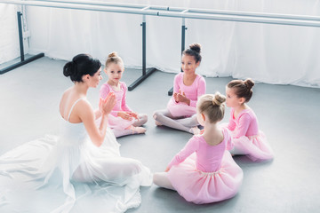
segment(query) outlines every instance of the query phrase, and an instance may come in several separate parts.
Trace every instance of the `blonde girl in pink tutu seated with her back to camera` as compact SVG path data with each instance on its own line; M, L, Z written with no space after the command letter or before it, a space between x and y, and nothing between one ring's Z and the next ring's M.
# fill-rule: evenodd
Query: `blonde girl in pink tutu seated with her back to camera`
M173 157L167 172L154 174L156 185L176 190L196 204L223 201L236 195L243 171L226 150L232 146L228 129L217 125L224 115L225 100L219 92L199 99L196 116L204 126L204 133L188 141Z

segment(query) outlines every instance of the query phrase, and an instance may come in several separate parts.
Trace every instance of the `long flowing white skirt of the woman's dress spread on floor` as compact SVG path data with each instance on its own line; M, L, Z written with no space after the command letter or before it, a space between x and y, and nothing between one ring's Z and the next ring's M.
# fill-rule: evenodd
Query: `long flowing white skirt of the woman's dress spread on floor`
M84 136L79 135L79 138ZM80 140L82 141L82 139ZM100 147L47 136L0 156L0 212L124 212L151 185L148 168L121 157L108 129Z

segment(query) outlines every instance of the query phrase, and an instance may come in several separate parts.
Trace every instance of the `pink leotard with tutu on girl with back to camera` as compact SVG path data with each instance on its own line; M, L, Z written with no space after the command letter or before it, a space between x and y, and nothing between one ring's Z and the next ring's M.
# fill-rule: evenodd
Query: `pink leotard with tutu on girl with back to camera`
M215 146L207 144L203 136L194 136L169 163L168 178L187 201L223 201L238 192L243 171L227 151L232 146L229 131L225 128L222 133L222 142Z

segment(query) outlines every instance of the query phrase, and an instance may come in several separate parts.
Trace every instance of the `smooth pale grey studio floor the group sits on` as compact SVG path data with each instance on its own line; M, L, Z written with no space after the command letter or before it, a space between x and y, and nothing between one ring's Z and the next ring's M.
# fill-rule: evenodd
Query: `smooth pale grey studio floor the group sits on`
M60 95L72 85L62 75L64 64L42 58L0 75L0 154L45 134L58 133ZM129 85L139 75L140 71L127 69L123 80ZM154 110L166 106L173 76L157 71L127 93L129 106L148 114L149 121L145 135L118 139L121 153L139 159L153 172L163 171L191 137L186 132L156 127L152 119ZM207 93L224 93L231 78L205 80ZM92 106L98 104L98 91L88 92ZM260 130L267 135L276 158L257 163L245 156L235 157L244 170L244 183L236 197L195 205L178 193L152 185L141 188L140 207L127 212L320 212L320 89L257 83L249 106L257 114ZM228 122L228 116L229 109L223 122Z

